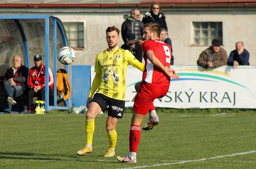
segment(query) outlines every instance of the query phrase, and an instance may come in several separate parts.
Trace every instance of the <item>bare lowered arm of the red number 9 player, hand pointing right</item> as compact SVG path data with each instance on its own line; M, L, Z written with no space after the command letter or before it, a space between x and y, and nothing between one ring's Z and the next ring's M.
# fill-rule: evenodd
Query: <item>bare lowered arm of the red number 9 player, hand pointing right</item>
M147 58L150 60L150 62L153 63L154 66L162 70L165 74L172 77L173 79L180 79L179 75L175 73L174 69L169 69L164 67L164 65L157 59L153 51L148 50L146 52L146 55L147 55Z

